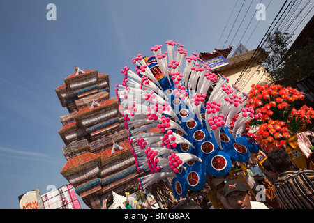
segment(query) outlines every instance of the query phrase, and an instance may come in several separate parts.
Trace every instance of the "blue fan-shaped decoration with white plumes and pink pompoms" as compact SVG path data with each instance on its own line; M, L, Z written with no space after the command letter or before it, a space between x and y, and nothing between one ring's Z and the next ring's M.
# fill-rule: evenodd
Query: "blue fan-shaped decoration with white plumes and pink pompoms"
M241 134L245 123L261 114L245 107L247 95L228 85L226 77L218 80L206 100L216 75L197 54L187 56L183 45L165 43L167 52L156 45L151 47L154 56L133 58L135 72L128 66L121 70L124 80L116 93L124 107L121 113L137 171L148 173L138 179L142 190L172 178L174 197L179 199L186 197L188 188L202 189L206 173L225 176L232 160L247 162L250 153L258 152L258 145ZM237 114L232 131L229 125ZM220 134L230 140L220 140Z

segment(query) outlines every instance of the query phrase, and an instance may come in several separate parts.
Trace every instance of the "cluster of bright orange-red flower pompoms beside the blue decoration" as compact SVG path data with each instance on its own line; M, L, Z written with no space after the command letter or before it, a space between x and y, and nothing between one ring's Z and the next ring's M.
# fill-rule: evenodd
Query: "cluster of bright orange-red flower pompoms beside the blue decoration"
M258 126L256 139L264 151L285 148L291 136L289 130L297 133L302 126L313 122L313 108L304 105L301 109L294 108L304 95L292 87L281 85L253 84L246 106L251 106L261 114L259 120L252 120L249 125Z

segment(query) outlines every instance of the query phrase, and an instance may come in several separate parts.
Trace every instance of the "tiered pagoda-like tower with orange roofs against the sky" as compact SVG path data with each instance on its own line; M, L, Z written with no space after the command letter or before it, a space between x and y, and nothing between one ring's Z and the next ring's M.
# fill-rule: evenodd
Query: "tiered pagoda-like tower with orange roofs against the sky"
M109 98L109 75L80 70L55 89L69 114L61 116L59 134L66 164L61 174L89 208L105 208L112 191L133 192L137 186L135 160L128 130L116 97Z

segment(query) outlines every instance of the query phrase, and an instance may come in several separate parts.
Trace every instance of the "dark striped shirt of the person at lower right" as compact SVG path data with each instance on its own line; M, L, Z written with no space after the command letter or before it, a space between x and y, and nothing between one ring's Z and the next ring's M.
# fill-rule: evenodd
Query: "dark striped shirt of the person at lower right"
M314 171L300 169L278 175L274 184L276 197L283 209L314 208Z

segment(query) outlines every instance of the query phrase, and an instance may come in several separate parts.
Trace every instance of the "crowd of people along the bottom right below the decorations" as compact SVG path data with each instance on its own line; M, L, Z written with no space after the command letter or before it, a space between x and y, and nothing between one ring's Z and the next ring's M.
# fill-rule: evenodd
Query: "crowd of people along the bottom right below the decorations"
M314 170L298 169L286 151L276 149L237 176L207 175L207 185L190 191L178 209L313 209Z

